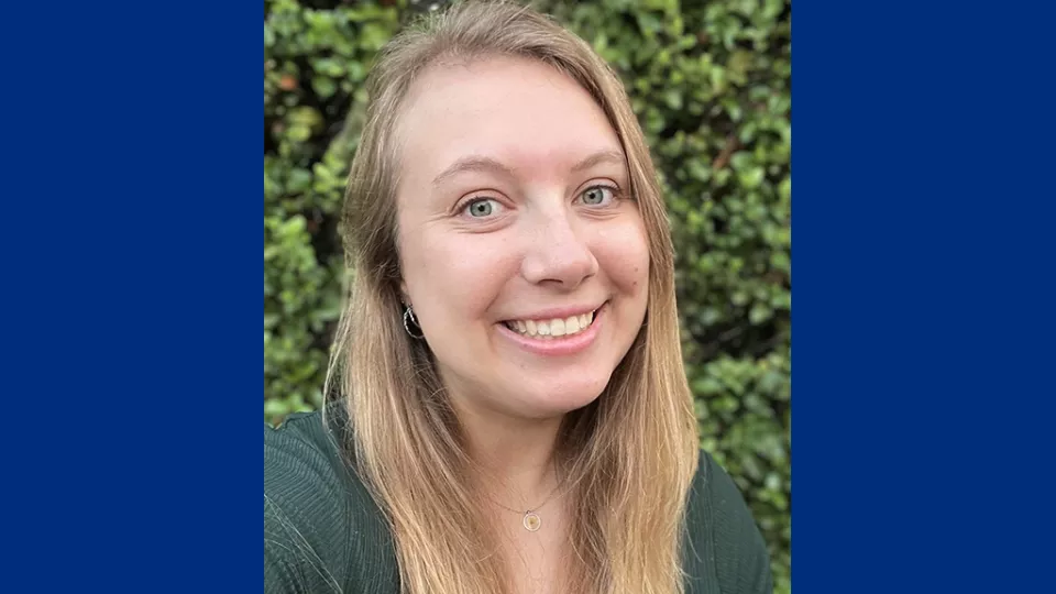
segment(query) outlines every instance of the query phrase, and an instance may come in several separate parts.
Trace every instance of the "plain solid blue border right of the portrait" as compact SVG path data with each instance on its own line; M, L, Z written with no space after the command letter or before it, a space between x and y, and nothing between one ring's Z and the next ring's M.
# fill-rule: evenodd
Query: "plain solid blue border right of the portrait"
M801 592L1052 587L1040 12L796 4Z

